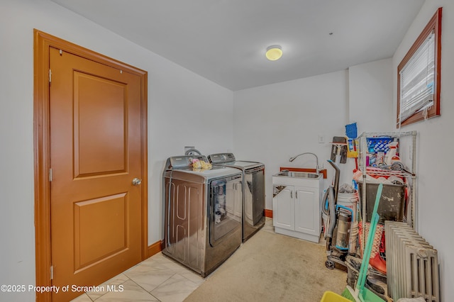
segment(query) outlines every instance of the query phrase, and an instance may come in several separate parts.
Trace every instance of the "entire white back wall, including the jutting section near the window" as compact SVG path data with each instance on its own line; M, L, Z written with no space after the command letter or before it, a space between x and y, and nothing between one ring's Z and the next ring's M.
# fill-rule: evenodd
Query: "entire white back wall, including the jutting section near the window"
M334 169L333 136L344 136L345 125L357 123L363 131L392 130L392 60L379 60L349 67L348 71L321 74L233 94L233 145L237 159L265 163L266 208L272 209L272 174L279 167L315 167L310 155L294 162L289 158L314 152L328 170L326 189ZM323 135L326 143L319 143ZM336 161L340 184L351 184L355 161Z

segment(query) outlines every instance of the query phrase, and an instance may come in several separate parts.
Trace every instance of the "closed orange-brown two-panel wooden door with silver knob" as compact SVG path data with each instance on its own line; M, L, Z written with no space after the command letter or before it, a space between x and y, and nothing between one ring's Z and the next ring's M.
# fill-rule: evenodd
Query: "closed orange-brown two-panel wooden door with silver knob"
M68 301L141 254L140 77L50 47L52 293Z

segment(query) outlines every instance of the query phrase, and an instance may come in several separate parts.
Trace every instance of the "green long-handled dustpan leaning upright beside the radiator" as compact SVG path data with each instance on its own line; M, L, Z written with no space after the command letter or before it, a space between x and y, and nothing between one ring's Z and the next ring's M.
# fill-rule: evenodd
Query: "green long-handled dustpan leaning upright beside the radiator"
M378 220L380 216L377 214L378 204L380 203L380 197L382 196L383 184L380 184L377 189L377 196L375 197L374 211L372 212L372 220L370 221L370 230L367 235L367 241L362 255L362 263L360 274L358 275L358 282L355 290L350 286L347 286L350 296L348 298L354 298L355 302L383 302L384 300L377 296L370 289L365 288L367 267L369 267L370 253L372 252L372 245L374 243L375 229L377 228ZM343 295L345 296L345 295Z

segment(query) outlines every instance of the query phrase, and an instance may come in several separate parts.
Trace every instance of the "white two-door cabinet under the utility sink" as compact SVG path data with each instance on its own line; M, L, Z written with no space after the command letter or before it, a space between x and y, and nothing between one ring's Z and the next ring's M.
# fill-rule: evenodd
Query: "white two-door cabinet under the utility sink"
M321 181L273 176L275 232L319 242L321 233Z

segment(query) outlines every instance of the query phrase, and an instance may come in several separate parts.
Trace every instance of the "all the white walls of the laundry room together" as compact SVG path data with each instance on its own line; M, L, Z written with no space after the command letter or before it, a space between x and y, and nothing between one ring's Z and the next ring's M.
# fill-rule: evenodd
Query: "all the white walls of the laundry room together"
M450 0L426 1L392 58L390 71L389 61L382 60L234 94L48 0L1 1L0 284L35 283L33 28L148 71L148 242L152 244L162 239L162 168L167 157L182 154L185 145L194 145L205 154L233 151L238 159L264 162L266 208L272 209L271 175L282 166L315 165L309 156L290 163L291 156L315 152L330 172L331 181L333 169L326 162L331 145L319 144L318 135L329 142L345 133L344 125L355 121L358 131L393 130L387 127L394 125L396 116L395 70L438 6L443 6L442 116L403 130L419 132L418 230L438 249L443 301L453 300L449 284L454 284L454 258L450 257L454 250L450 233L454 202L448 171L453 167L454 62L450 54L454 48L454 3ZM389 78L394 77L392 84L387 72ZM391 94L389 85L394 86ZM393 99L390 121L381 123L378 114L365 118L364 106L386 115L384 108L389 108L389 103L384 100L389 97ZM214 122L218 128L206 127ZM348 181L350 166L341 168L343 181ZM4 297L33 301L34 294L2 294Z

